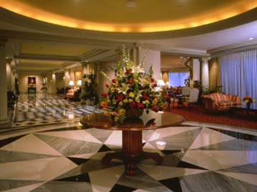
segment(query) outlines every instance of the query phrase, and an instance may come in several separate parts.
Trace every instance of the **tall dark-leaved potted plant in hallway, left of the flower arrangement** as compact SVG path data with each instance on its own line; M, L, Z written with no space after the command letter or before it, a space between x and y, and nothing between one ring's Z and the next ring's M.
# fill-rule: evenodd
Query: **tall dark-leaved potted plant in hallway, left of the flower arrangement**
M83 78L86 79L84 84L84 95L82 99L86 101L86 105L96 105L99 102L99 98L96 94L96 75L84 74Z

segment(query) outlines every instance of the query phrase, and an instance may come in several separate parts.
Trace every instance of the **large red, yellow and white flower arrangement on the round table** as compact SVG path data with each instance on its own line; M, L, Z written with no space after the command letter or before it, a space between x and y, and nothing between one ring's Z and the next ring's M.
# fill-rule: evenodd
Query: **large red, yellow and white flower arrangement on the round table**
M114 79L110 80L106 73L101 72L109 83L106 84L108 92L101 94L99 107L109 108L116 121L121 116L127 116L126 113L131 110L140 112L145 109L148 113L149 110L158 112L166 107L160 92L154 90L157 84L153 78L152 66L146 73L143 70L143 62L138 65L133 63L125 48L122 56L124 68L121 68L120 62L117 63Z

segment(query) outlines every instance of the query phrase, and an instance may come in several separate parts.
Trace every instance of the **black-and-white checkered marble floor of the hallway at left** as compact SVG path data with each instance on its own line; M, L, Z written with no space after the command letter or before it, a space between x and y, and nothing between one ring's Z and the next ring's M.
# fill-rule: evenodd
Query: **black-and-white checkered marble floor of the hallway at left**
M21 94L16 105L12 127L26 127L41 124L56 124L79 119L81 115L102 112L80 102L69 102L60 95L46 93Z

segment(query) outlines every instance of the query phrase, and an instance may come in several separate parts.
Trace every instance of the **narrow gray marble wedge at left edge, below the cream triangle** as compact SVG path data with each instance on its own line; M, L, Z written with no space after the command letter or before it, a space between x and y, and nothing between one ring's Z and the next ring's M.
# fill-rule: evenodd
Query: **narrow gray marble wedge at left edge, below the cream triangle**
M0 150L0 164L14 161L25 161L31 159L44 159L49 157L55 157L52 155L45 154L32 154L26 152L16 152L16 151L4 151Z

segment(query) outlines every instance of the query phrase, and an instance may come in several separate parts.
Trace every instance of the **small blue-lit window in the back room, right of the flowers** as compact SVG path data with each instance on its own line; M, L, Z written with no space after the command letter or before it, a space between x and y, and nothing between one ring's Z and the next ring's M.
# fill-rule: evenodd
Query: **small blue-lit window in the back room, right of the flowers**
M172 72L168 73L168 82L172 87L183 87L184 81L188 78L189 72Z

